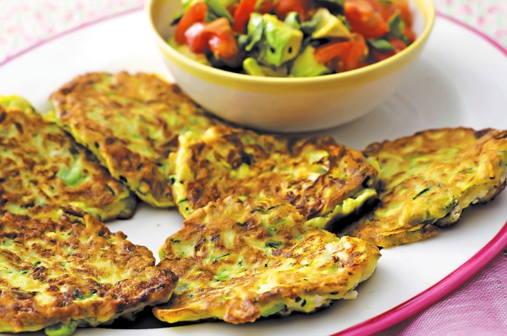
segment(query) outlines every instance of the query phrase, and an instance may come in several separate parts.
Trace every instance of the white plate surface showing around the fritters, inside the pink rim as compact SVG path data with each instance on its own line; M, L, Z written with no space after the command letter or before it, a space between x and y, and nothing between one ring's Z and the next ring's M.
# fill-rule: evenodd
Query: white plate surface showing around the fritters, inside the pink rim
M0 93L25 96L37 108L46 110L49 93L75 75L120 70L159 72L170 78L140 11L87 25L0 65ZM423 55L413 63L396 93L370 115L325 133L361 149L373 141L438 127L507 129L506 78L507 58L499 49L470 30L439 18ZM94 328L78 330L76 335L329 335L416 297L465 264L482 247L489 252L499 250L503 245L494 247L489 242L501 231L506 219L504 193L488 205L465 210L456 226L434 238L384 249L377 271L358 287L357 299L337 302L316 314L239 326L200 323L142 332ZM175 210L141 205L133 219L114 221L108 226L113 231L123 231L133 243L146 245L157 254L165 238L177 231L181 223Z

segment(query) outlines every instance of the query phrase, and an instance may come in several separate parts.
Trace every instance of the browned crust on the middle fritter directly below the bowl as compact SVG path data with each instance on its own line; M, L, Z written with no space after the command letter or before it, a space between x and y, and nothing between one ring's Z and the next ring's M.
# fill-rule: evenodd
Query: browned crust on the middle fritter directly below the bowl
M190 171L195 172L195 179L184 181L184 186L193 209L228 195L253 199L263 195L282 198L306 219L312 219L331 212L362 188L363 183L371 186L377 180L377 170L366 162L360 151L339 145L329 136L286 138L230 127L215 129L218 135L213 140L189 145L192 161L188 164ZM255 139L254 143L246 143L246 137ZM218 154L217 148L229 148L227 155ZM330 153L326 158L329 171L311 184L290 176L293 165L299 164L302 153L308 150ZM247 163L251 174L246 179L231 179L230 169L213 165L207 153L213 153L232 169ZM276 160L275 155L280 155L280 159Z

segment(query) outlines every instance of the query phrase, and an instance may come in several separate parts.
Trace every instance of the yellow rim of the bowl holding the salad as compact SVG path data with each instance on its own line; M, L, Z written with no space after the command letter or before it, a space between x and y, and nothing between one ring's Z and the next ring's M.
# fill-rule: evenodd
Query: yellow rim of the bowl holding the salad
M170 46L158 32L155 25L155 17L162 4L168 1L177 0L148 0L145 5L145 13L148 15L149 27L156 39L156 44L166 58L169 58L177 67L195 77L204 79L206 82L228 86L234 89L245 89L246 91L271 91L277 86L284 86L286 89L308 89L311 86L319 86L319 89L331 89L332 87L349 86L370 82L374 79L384 77L399 70L401 67L411 63L422 50L425 41L432 31L436 11L433 0L408 0L415 4L419 11L423 12L425 27L423 34L403 51L396 55L381 60L380 62L367 65L355 70L339 72L337 74L315 76L315 77L258 77L251 75L229 72L209 65L204 65L182 55ZM280 91L280 90L277 90Z

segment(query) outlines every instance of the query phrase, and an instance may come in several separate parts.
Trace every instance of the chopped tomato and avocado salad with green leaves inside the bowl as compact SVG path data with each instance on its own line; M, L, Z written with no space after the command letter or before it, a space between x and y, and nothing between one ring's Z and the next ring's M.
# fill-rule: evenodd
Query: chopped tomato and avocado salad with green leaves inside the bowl
M168 44L212 67L314 77L365 67L415 41L407 0L182 0Z

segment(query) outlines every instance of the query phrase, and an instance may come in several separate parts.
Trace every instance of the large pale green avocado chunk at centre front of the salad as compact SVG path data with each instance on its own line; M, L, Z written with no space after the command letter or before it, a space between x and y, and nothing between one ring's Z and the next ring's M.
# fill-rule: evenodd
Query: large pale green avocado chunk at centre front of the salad
M262 63L279 67L298 55L303 40L301 30L289 27L276 15L270 14L263 15L263 28L263 43L260 43L259 52Z

